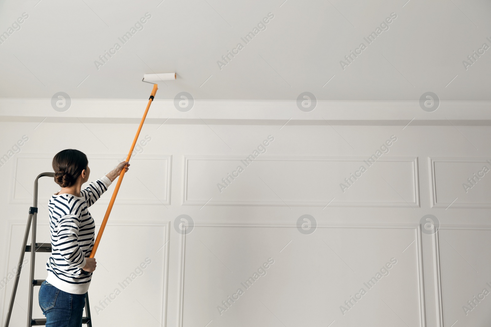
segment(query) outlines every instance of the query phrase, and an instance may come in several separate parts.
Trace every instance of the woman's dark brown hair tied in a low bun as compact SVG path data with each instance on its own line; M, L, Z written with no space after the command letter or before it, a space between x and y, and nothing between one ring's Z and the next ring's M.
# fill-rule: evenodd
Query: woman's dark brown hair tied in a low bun
M53 158L53 170L55 171L55 183L61 187L72 186L87 168L89 161L82 151L67 149L59 151Z

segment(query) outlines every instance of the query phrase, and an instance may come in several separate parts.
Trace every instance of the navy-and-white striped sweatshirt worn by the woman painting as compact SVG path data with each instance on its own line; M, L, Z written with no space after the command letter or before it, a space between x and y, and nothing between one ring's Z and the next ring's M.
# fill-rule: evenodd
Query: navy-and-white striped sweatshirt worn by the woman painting
M51 256L46 263L46 281L72 294L85 294L92 273L83 275L85 257L94 246L94 219L88 207L107 191L111 184L102 177L80 191L80 197L55 193L48 204L50 211Z

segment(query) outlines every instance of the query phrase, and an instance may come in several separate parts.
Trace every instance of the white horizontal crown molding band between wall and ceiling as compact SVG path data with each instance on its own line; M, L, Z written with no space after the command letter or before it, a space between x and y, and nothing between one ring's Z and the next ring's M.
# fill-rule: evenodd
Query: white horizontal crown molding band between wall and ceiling
M137 123L147 100L72 99L65 112L55 111L51 99L0 98L0 121ZM232 125L412 125L490 126L491 101L440 101L426 112L419 101L317 101L303 112L296 101L195 100L188 112L178 111L173 100L152 104L148 124Z

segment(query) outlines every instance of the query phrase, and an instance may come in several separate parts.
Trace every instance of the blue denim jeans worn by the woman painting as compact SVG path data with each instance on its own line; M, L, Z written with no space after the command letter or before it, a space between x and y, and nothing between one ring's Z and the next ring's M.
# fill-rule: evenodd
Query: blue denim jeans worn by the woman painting
M39 306L46 316L46 327L81 327L85 294L67 293L43 281Z

